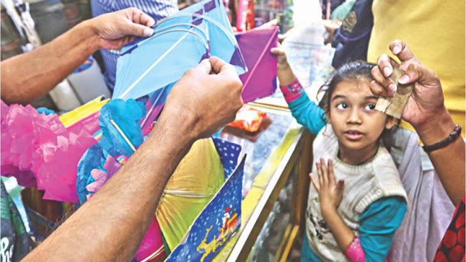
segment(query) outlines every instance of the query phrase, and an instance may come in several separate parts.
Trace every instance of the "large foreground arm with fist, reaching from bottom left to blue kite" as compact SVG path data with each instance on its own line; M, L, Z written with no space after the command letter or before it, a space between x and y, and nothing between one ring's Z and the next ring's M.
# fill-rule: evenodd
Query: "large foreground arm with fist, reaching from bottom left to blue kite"
M24 261L130 261L178 163L197 138L234 120L241 90L234 68L217 57L188 70L125 166Z

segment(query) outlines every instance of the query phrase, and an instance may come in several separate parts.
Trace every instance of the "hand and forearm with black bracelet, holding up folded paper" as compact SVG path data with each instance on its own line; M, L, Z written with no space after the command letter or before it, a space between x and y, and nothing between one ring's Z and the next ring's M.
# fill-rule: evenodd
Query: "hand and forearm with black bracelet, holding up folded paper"
M381 55L377 66L372 70L375 79L371 82L372 92L380 96L391 96L397 88L397 83L389 79L393 67L405 70L406 73L398 83L413 84L414 90L402 118L413 125L424 144L432 145L444 140L452 133L455 125L444 104L439 76L417 60L406 42L395 40L390 44L390 50L400 59L401 64L386 54ZM458 205L465 194L464 140L456 139L428 155L445 191L454 205Z

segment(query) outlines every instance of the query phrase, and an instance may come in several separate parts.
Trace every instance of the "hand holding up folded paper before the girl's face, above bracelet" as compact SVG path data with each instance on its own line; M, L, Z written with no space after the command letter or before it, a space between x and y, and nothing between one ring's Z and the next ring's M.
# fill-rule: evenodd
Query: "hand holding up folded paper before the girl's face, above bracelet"
M417 60L406 42L395 40L389 48L393 55L400 59L401 64L398 64L387 54L381 55L378 58L377 66L372 69L372 76L376 79L376 81L371 82L372 92L380 96L391 96L398 83L414 83L413 94L404 108L402 119L413 125L415 129L426 125L439 113L446 112L445 105L443 105L441 83L437 74ZM394 83L389 78L394 67L406 71L398 83Z

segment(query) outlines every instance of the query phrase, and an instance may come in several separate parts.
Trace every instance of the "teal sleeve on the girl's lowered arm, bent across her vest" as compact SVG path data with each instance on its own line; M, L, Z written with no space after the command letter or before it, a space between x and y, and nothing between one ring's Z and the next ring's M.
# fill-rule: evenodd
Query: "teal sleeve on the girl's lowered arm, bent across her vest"
M406 208L404 198L390 196L373 202L359 216L359 239L367 262L385 260Z

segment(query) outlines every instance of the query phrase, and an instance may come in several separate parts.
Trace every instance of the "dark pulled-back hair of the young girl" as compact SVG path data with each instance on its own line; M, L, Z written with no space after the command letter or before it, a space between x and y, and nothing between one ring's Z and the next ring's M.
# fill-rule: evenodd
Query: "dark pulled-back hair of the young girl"
M351 81L351 80L358 80L358 79L367 79L370 81L374 80L371 74L372 68L376 66L376 64L371 64L365 61L357 60L354 62L348 62L340 66L335 73L333 73L332 77L319 88L319 92L317 92L317 96L319 96L323 92L323 96L321 101L319 102L319 107L323 108L326 112L330 110L330 99L332 98L332 94L338 86L339 83L343 81ZM321 116L321 118L326 121L325 114ZM400 121L398 122L398 125ZM391 130L385 129L382 132L380 137L382 138L382 143L384 146L390 150L390 145L393 144L393 132L395 131L396 127Z

